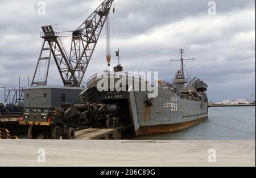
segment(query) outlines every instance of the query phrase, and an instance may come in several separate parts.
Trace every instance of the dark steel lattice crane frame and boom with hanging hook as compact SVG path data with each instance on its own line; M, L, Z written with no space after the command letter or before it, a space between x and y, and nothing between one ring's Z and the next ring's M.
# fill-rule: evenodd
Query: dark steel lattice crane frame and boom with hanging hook
M72 43L69 56L63 41L61 40L61 36L53 31L52 26L42 27L43 35L41 37L44 41L31 86L47 84L49 63L51 56L53 56L64 86L80 87L102 28L108 19L113 2L114 0L105 0L102 2L89 18L87 18L79 28L72 32ZM107 30L106 33L107 50L109 51L109 31ZM109 65L110 54L108 51L107 61ZM42 62L46 63L46 68L44 70L43 78L40 78L40 65ZM36 79L37 74L39 77Z

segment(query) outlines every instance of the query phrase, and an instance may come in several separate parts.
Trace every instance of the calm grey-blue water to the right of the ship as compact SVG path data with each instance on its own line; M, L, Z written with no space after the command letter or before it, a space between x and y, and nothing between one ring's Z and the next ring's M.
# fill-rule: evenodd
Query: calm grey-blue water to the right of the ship
M134 139L255 139L255 107L209 108L208 116L207 121L185 130Z

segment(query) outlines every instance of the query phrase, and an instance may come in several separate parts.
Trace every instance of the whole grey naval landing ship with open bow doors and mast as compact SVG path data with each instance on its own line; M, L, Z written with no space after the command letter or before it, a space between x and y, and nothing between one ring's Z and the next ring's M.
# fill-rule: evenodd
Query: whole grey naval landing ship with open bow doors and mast
M205 92L208 86L196 77L188 82L184 75L183 49L180 54L181 67L174 81L156 81L157 96L150 96L152 91L142 90L143 87L136 90L136 82L139 86L152 86L154 83L141 75L129 75L118 65L114 71L104 71L90 77L87 88L81 92L81 98L84 102L115 106L115 112L109 116L106 125L110 127L113 121L115 126L130 128L133 135L175 132L198 124L208 118L208 98ZM114 82L112 85L102 83L103 78L109 83L111 79ZM121 78L126 79L126 83L118 82ZM123 90L117 91L113 84Z

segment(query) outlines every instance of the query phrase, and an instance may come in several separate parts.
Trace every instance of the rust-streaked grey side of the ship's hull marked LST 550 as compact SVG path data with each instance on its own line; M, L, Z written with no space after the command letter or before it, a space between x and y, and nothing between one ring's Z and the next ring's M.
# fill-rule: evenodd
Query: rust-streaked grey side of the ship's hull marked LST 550
M147 92L134 93L139 124L136 135L175 132L208 118L207 102L181 99L173 92L159 88L158 96L148 106L144 102Z

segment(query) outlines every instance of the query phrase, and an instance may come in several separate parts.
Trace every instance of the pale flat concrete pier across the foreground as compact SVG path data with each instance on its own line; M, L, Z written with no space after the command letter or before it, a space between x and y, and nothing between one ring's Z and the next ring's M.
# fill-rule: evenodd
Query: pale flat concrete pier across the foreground
M255 166L255 140L0 140L0 166Z

